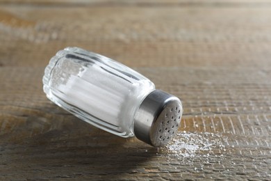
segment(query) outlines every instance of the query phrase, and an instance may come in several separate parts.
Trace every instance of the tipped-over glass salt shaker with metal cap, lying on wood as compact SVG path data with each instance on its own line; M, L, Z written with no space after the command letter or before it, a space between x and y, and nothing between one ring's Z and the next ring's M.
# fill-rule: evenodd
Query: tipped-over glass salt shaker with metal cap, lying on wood
M179 98L106 56L67 47L51 58L43 89L49 100L87 123L160 147L178 129Z

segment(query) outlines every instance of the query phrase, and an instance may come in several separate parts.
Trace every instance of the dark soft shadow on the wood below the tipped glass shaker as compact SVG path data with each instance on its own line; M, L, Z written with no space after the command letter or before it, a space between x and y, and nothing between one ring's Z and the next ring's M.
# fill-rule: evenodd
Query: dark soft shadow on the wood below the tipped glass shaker
M0 142L3 164L8 171L16 169L17 175L30 179L117 180L125 174L144 173L147 162L158 151L135 138L123 139L104 132L69 114L49 120L28 118L10 134L2 135L2 141L5 136L6 141Z

